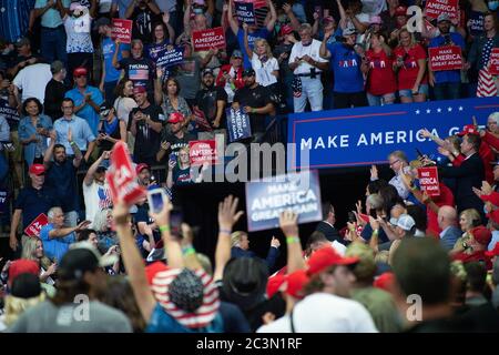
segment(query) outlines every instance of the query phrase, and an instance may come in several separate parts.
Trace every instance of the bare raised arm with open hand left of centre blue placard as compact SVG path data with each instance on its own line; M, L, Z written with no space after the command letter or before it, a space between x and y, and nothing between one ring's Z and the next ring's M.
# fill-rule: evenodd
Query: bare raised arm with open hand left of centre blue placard
M218 281L223 278L224 268L231 258L231 233L232 227L237 220L243 215L243 212L237 211L240 199L233 195L225 197L224 202L218 204L218 240L215 250L215 272L213 280Z

